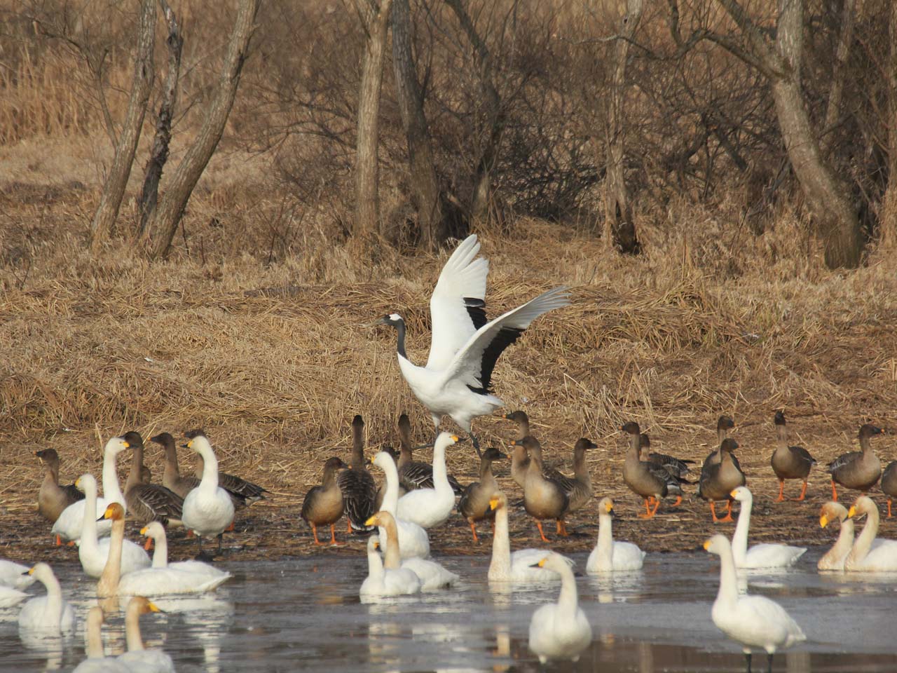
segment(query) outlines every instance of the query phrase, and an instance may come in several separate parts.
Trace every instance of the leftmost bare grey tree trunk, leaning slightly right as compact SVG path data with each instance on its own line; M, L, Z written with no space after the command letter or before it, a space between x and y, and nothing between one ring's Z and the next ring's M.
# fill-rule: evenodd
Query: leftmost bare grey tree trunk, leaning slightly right
M155 45L156 3L143 0L140 8L140 28L137 38L137 54L134 64L134 83L127 101L125 124L118 136L115 158L109 175L103 184L100 205L91 222L91 250L98 252L109 239L118 217L118 208L125 196L127 179L131 175L134 154L144 126L146 106L152 91L152 48Z

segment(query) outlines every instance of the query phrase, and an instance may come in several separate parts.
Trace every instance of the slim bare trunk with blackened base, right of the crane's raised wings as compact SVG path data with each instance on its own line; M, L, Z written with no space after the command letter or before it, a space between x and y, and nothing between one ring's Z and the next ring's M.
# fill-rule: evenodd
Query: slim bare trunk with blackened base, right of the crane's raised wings
M614 41L613 71L607 97L607 119L605 143L605 230L607 247L613 247L624 254L637 255L640 252L639 239L632 222L626 179L623 175L626 146L623 125L623 106L626 98L626 55L629 44L639 27L642 0L627 0L626 13L620 19Z

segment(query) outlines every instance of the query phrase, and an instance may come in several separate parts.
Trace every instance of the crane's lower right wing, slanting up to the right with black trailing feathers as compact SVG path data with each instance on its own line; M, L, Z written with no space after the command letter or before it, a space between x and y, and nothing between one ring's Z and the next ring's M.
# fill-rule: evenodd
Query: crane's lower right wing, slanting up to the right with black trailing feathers
M476 393L488 393L492 369L504 349L517 341L533 320L568 304L567 288L555 287L486 323L457 352L446 371L446 380L458 379Z

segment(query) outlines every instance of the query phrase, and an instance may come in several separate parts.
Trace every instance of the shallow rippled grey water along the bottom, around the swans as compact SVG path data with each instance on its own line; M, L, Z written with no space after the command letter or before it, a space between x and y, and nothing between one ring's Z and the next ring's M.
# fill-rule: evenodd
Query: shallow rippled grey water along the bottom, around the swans
M897 575L820 575L811 549L787 573L752 574L751 593L781 603L807 642L779 654L774 669L886 671L897 669ZM586 555L574 555L581 570ZM162 647L179 671L537 670L527 649L533 610L556 598L540 587L490 590L485 556L440 561L462 577L456 590L363 605L358 587L367 563L318 557L265 563L221 562L235 574L213 594L158 599L164 614L143 616L147 647ZM17 673L69 670L83 659L83 616L94 583L80 567L57 566L78 611L74 636L23 642L17 611L0 610L0 667ZM740 648L710 621L718 562L704 553L648 555L642 572L578 578L580 605L595 641L577 664L552 670L741 671ZM40 592L39 585L30 590ZM104 626L107 653L124 642L121 614ZM765 670L765 655L754 669Z

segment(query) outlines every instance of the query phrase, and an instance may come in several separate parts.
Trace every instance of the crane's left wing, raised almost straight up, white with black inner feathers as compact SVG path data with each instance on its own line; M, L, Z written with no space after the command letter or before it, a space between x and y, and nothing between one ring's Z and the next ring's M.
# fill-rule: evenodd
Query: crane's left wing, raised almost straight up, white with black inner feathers
M471 234L442 267L430 299L432 338L427 368L444 370L452 358L486 323L486 275L489 262L476 258L480 244Z

